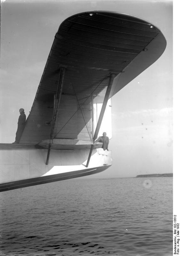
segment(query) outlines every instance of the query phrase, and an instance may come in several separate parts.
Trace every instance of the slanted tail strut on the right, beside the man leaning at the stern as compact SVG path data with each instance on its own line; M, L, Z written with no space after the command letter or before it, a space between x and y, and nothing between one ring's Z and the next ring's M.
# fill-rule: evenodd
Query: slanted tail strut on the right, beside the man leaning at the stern
M94 136L93 136L93 141L94 142L95 142L95 140L96 140L96 138L98 136L98 132L99 132L102 120L103 120L104 112L106 110L106 105L107 105L107 101L109 99L109 95L110 95L111 88L112 88L112 85L113 85L114 77L115 77L115 75L111 74L110 78L109 78L109 84L107 86L107 90L106 90L106 94L105 94L105 97L104 97L104 101L103 101L103 105L102 105L102 108L101 108L101 112L100 112L100 115L99 115L98 123L97 123L96 130L95 130L95 133L94 133ZM91 157L91 154L92 154L93 147L94 147L94 145L91 145L90 153L89 153L89 156L88 156L86 167L88 167L88 165L89 165L90 157Z

